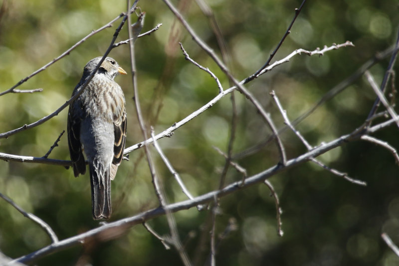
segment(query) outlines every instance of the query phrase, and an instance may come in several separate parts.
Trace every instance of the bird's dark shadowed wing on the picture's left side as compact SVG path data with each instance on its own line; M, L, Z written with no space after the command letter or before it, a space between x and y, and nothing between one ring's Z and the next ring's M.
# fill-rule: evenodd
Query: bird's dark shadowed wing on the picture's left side
M77 177L79 174L86 173L86 163L82 153L80 143L80 123L81 118L74 112L76 102L69 105L68 111L68 146L69 154L72 160L73 174Z

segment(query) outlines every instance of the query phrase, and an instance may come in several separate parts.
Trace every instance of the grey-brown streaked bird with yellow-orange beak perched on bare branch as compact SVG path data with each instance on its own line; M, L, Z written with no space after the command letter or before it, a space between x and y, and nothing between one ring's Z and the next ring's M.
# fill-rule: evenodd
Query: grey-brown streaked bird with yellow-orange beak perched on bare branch
M73 90L77 93L101 57L91 59ZM111 57L105 58L83 93L69 106L68 146L73 174L86 173L83 151L89 162L93 219L111 216L111 180L122 161L126 140L125 97L114 81L126 71Z

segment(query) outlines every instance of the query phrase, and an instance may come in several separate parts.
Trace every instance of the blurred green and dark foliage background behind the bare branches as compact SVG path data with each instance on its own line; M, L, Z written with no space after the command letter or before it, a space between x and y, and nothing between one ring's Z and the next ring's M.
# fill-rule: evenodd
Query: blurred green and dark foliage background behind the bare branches
M205 0L213 10L230 54L227 62L241 80L260 68L273 51L294 16L300 0ZM218 55L220 49L207 17L193 0L174 1L198 35ZM214 80L184 59L178 42L190 56L208 67L224 88L229 87L215 63L193 42L162 1L140 1L146 11L143 31L163 23L159 30L136 41L138 88L148 126L159 133L197 110L218 89ZM36 69L59 56L93 29L108 23L127 9L126 1L99 0L0 0L0 91L16 84ZM364 62L395 43L399 16L396 0L307 1L291 33L274 60L293 50L352 41L324 56L300 55L248 83L246 87L271 113L278 128L281 114L269 95L276 92L291 120L307 111L326 92L352 75ZM134 17L134 16L133 16ZM132 18L133 18L132 17ZM0 97L0 131L6 132L50 114L69 99L81 78L83 66L102 55L114 34L107 28L92 36L68 56L19 86L42 88L40 93L6 94ZM126 26L118 40L127 39ZM115 58L130 72L128 45L113 49ZM274 62L272 60L272 62ZM378 84L389 57L376 64L371 73ZM396 66L394 70L397 70ZM118 76L128 109L129 147L143 140L134 108L131 76ZM398 86L389 83L389 89ZM297 129L311 145L348 134L366 119L376 96L362 77L313 114ZM270 135L254 107L239 93L236 104L236 132L233 155L248 175L278 163L271 143L254 153L243 153ZM394 99L395 100L395 99ZM0 152L43 156L66 130L67 110L46 123L0 139ZM194 196L219 186L224 158L212 147L227 151L232 104L224 97L211 109L176 130L171 138L159 140L163 151ZM395 126L374 135L399 148ZM290 131L281 135L287 156L306 151ZM49 158L69 160L66 133ZM156 168L163 180L169 202L185 200L172 174L154 151ZM387 150L368 142L351 142L319 159L330 167L367 182L367 187L350 183L312 163L273 176L269 181L279 195L283 237L277 236L273 198L265 185L257 185L220 200L216 233L230 226L219 243L216 265L228 266L394 266L399 258L381 239L387 232L399 244L399 168ZM226 184L242 175L229 169ZM48 223L59 239L99 226L91 217L89 175L73 177L64 167L0 161L0 192L24 210ZM129 154L112 182L113 215L110 221L133 216L158 206L144 150ZM48 236L32 221L0 201L0 250L16 258L50 244ZM193 265L206 265L209 258L209 211L196 208L174 214L177 228ZM149 221L160 235L168 235L165 217ZM202 244L201 244L202 243ZM156 256L154 256L156 254ZM95 241L57 252L37 265L183 265L175 250L165 250L143 226L107 242Z

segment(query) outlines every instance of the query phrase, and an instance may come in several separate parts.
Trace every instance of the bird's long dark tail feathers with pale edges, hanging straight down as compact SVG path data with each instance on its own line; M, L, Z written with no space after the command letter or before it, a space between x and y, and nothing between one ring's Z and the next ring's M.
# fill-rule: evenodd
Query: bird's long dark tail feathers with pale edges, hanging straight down
M91 184L91 207L94 220L111 217L110 169L102 164L89 164Z

